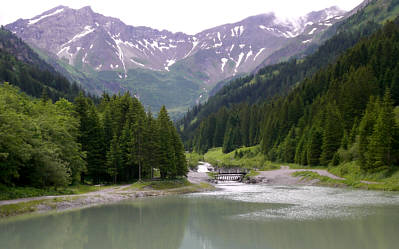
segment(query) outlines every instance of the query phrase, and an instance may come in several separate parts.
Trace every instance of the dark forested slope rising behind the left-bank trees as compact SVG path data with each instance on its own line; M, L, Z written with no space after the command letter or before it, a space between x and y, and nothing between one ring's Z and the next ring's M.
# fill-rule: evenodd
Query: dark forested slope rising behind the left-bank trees
M52 100L72 100L81 91L76 84L57 73L20 38L0 29L0 82L18 86L27 94L40 97L43 92Z

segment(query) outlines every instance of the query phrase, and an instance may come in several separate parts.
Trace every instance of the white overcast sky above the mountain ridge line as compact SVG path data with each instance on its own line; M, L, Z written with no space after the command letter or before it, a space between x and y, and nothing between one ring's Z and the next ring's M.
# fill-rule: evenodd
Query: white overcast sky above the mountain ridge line
M133 26L148 26L195 34L248 16L275 12L298 17L313 10L338 6L351 10L363 0L8 0L0 8L0 24L29 19L58 5L81 8L121 19Z

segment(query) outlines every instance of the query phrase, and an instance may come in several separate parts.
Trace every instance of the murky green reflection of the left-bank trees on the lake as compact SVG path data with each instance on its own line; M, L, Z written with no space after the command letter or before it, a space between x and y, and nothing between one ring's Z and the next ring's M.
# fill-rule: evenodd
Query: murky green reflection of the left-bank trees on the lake
M187 219L186 201L151 199L0 224L0 248L173 249Z

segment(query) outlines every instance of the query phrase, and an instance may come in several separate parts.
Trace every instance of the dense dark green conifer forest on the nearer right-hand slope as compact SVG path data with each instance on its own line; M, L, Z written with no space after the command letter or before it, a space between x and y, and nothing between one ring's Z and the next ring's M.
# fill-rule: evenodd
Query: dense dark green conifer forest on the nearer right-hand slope
M286 96L219 109L201 122L190 142L201 153L211 147L230 152L261 144L272 161L337 165L357 160L365 170L378 171L399 163L398 104L396 20L361 39Z

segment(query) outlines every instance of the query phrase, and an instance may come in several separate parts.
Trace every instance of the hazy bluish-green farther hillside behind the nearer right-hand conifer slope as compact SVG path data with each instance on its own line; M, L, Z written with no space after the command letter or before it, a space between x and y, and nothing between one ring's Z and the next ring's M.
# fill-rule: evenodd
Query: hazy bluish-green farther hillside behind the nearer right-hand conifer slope
M187 148L191 148L192 141L198 128L203 126L202 120L210 118L223 109L241 109L245 106L270 102L273 98L286 95L296 85L307 77L334 63L338 56L352 47L363 37L374 33L386 20L393 20L399 13L397 1L370 1L357 13L333 25L323 36L332 37L317 50L309 49L304 58L293 58L288 62L267 66L260 69L255 76L233 80L223 87L217 94L209 98L207 103L194 106L183 119L177 122ZM336 34L336 35L333 35ZM259 140L255 141L255 144ZM252 143L251 143L252 144ZM218 144L201 145L201 151L218 146Z

